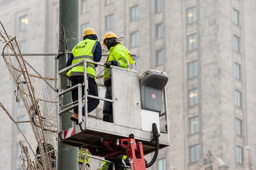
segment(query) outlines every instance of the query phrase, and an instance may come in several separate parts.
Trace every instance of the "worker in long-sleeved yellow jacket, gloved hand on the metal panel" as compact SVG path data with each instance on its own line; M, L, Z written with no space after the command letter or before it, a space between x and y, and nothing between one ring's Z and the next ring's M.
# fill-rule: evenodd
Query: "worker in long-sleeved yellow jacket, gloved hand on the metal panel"
M107 88L105 98L112 99L111 92L111 69L110 66L114 65L126 69L129 68L129 63L134 64L134 60L130 55L129 50L117 42L116 34L108 32L103 38L103 45L108 48L108 57L106 59L106 68L104 72L104 85ZM111 102L104 101L103 106L103 121L113 122L113 108Z

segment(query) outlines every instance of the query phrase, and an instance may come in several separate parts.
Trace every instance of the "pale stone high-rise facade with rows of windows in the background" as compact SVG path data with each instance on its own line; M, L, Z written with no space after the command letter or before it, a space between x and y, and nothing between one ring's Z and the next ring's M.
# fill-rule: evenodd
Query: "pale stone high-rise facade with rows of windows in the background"
M79 2L80 35L86 27L94 28L99 40L106 32L115 32L136 53L132 69L141 73L154 68L169 75L170 146L160 150L149 169L256 169L256 1ZM57 52L57 0L2 0L0 4L0 19L10 34L19 37L24 52ZM30 62L36 65L38 58ZM45 64L37 68L51 75L47 72L51 62L45 58L40 62ZM3 75L7 85L10 81ZM6 91L15 90L6 85ZM18 118L21 109L15 97L7 100ZM15 129L7 117L0 116L5 122L1 129L6 129L1 135L12 129L5 140L16 143ZM10 158L1 158L1 164L18 161L14 144L0 145ZM17 164L6 169L18 170Z

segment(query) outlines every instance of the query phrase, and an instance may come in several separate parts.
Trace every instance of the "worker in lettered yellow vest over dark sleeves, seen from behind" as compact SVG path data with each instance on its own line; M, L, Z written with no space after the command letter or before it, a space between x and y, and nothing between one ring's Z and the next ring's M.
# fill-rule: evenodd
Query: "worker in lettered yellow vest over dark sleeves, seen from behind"
M72 50L71 57L67 61L67 67L71 64L77 63L83 59L99 62L101 60L101 45L97 41L97 35L93 28L86 28L83 33L83 41L79 42ZM93 63L86 64L86 73L88 77L88 95L98 96L98 87L95 82L97 65ZM71 86L75 86L78 83L84 82L84 66L83 63L71 68L67 72L67 76L70 77ZM84 88L83 94L84 96ZM72 101L78 100L78 89L72 90ZM93 111L98 105L99 100L94 98L88 98L88 113ZM74 108L74 113L71 116L71 120L78 123L78 107ZM84 107L83 107L84 115Z

